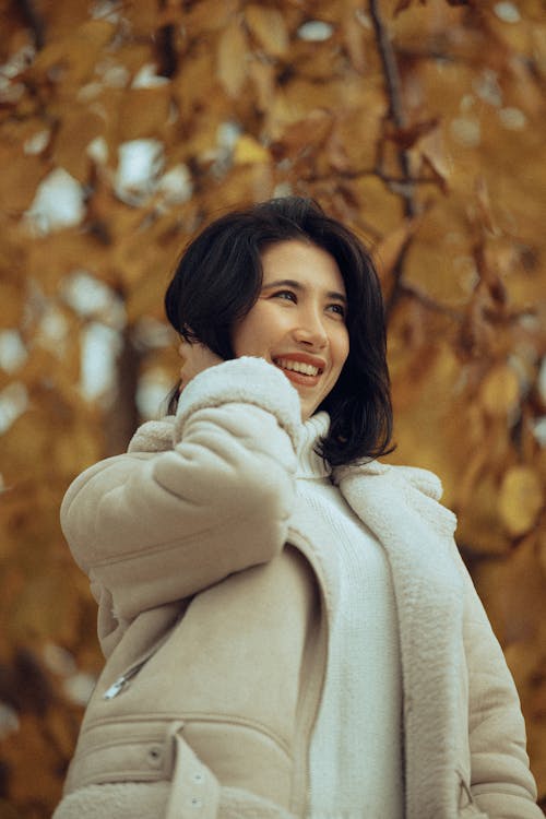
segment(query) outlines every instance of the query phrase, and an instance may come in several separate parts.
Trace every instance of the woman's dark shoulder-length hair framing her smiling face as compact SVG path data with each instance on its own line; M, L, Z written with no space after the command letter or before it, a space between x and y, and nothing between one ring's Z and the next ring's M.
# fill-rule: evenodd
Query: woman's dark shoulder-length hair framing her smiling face
M165 295L169 322L187 341L234 358L232 330L254 305L262 284L261 253L299 239L328 251L348 300L349 353L317 412L330 415L319 446L331 466L392 451L392 406L383 300L369 251L348 228L310 199L285 197L221 216L183 252ZM176 393L169 411L176 408Z

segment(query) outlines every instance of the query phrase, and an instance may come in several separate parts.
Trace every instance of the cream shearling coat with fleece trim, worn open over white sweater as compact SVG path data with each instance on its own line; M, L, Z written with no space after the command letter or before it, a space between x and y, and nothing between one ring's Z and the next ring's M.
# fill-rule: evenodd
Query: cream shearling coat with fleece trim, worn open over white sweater
M169 819L306 816L336 600L331 533L294 508L300 430L285 377L240 358L70 487L62 525L107 663L59 819L86 819L90 794L117 782L170 782ZM538 819L515 688L438 479L378 462L333 477L393 575L405 816Z

